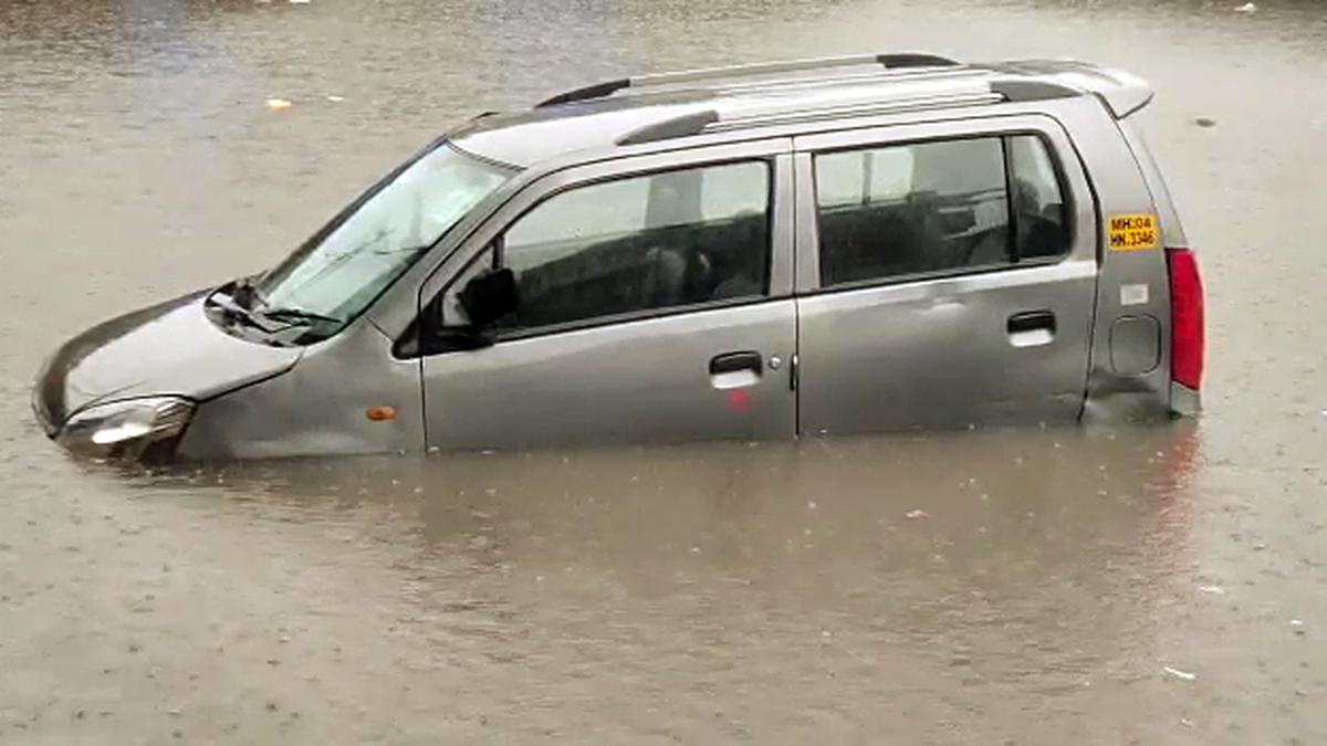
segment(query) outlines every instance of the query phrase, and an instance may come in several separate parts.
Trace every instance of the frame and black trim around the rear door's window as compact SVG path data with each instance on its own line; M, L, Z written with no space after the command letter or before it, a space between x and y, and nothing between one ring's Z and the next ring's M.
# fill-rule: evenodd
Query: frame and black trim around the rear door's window
M917 134L913 134L917 133ZM824 285L820 275L820 206L816 194L815 158L843 151L882 150L896 146L922 145L932 142L953 142L962 139L999 138L1006 147L1007 138L1031 135L1040 141L1055 171L1056 185L1064 203L1064 218L1068 228L1068 246L1055 256L1014 260L1009 264L961 267L914 272L889 277L872 277L852 283ZM1070 170L1074 159L1076 171ZM885 288L928 280L947 280L969 276L991 275L1011 269L1055 267L1075 259L1091 259L1100 267L1097 252L1099 238L1083 231L1096 226L1096 192L1082 163L1082 157L1064 126L1042 113L985 117L977 119L946 119L937 122L910 122L865 129L813 133L794 138L794 166L796 173L796 269L795 293L798 297L811 297L835 292L852 292L867 288ZM1006 181L1011 178L1006 167ZM1082 188L1080 188L1082 187ZM1009 187L1006 186L1006 190ZM1082 191L1082 194L1080 194ZM1093 219L1083 220L1082 210L1088 207ZM1011 204L1013 208L1013 204ZM1011 224L1013 227L1013 224ZM1015 239L1016 240L1016 239ZM1091 255L1087 255L1089 244ZM1080 256L1080 246L1084 248ZM809 267L808 267L809 265ZM809 271L808 271L809 269Z

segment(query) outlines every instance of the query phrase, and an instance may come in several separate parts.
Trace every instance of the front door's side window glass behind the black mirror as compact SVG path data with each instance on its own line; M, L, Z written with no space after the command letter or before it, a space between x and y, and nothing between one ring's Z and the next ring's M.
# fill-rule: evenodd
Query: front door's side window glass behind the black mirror
M498 324L507 332L760 297L770 272L770 166L563 191L512 223L490 252L479 265L515 276L516 309ZM464 279L445 297L447 325L466 323L455 300Z

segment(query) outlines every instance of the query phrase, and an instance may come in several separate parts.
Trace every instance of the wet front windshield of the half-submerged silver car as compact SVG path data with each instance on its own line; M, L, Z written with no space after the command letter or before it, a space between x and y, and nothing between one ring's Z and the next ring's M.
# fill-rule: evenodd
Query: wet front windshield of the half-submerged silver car
M439 145L264 275L261 305L344 325L512 175Z

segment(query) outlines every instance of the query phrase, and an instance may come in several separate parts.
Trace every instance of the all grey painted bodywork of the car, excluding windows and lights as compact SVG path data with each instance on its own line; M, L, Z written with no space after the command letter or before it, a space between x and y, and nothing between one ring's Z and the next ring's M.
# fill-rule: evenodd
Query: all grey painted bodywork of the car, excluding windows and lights
M90 329L61 348L35 392L38 414L53 427L98 401L186 396L202 404L180 454L247 458L426 445L791 437L799 374L803 431L1026 421L1072 417L1079 409L1087 419L1196 411L1197 392L1169 380L1164 251L1105 248L1105 218L1137 212L1156 212L1166 246L1184 246L1141 134L1132 121L1116 118L1151 92L1116 73L1036 65L791 86L652 89L476 118L454 133L459 146L524 170L341 335L305 350L251 344L212 327L199 296L179 299ZM1010 76L1055 78L1089 94L1007 104L985 97L957 104L941 96ZM928 86L937 96L933 105L803 115L872 97L924 102ZM613 145L626 131L709 109L719 112L721 122L701 134ZM1075 196L1072 255L1051 265L819 293L808 191L813 174L809 157L794 153L792 138L799 149L813 150L974 127L1031 127L1054 141ZM393 357L393 342L407 333L422 301L541 196L587 179L743 158L776 162L770 300L512 340L472 353ZM1147 285L1145 301L1132 293L1121 303L1124 285ZM1047 307L1059 321L1054 338L1007 336L1010 313ZM1157 320L1158 353L1156 336L1123 335L1112 344L1115 324L1139 316ZM759 378L709 376L711 357L748 349L766 357ZM1148 356L1160 357L1151 372L1116 366ZM798 365L776 368L776 357ZM393 406L397 417L370 422L365 410L372 406Z

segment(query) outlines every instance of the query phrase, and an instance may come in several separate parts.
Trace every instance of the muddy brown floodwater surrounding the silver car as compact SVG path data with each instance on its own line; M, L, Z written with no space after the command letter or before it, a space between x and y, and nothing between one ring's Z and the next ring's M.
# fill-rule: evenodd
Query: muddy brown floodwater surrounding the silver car
M1327 9L1237 4L0 0L0 742L1327 741ZM166 475L32 421L475 112L886 49L1153 82L1200 421Z

